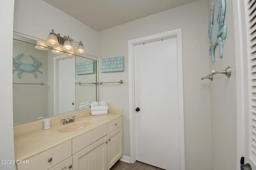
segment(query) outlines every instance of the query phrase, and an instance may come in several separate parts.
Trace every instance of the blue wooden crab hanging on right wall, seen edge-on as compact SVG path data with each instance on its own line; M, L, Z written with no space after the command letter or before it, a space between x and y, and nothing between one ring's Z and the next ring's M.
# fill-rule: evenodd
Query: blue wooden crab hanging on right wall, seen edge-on
M210 38L209 55L212 55L212 63L215 62L214 51L217 44L219 44L220 58L223 57L222 40L225 40L227 36L227 26L224 26L226 3L225 3L225 0L217 0L217 2L218 2L218 8L217 8L216 20L213 23L214 3L212 3L211 11L210 11L210 23L208 26L208 34Z

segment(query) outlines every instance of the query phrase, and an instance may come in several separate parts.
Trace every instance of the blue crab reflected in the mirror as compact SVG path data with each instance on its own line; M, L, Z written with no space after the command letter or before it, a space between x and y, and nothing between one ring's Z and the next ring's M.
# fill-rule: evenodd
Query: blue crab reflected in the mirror
M15 58L12 58L12 65L15 67L12 69L12 71L18 70L19 72L17 73L18 77L20 78L20 74L23 72L30 72L34 74L34 77L37 77L36 72L39 72L42 74L42 71L39 71L38 68L41 67L41 62L37 61L34 57L30 55L30 58L34 61L33 64L23 64L22 62L19 61L19 58L23 54L17 55Z

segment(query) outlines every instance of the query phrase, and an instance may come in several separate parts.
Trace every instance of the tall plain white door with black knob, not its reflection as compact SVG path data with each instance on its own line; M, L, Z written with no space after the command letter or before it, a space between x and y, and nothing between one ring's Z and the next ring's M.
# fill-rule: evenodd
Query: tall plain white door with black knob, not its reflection
M168 170L180 169L177 61L176 37L134 45L136 160Z

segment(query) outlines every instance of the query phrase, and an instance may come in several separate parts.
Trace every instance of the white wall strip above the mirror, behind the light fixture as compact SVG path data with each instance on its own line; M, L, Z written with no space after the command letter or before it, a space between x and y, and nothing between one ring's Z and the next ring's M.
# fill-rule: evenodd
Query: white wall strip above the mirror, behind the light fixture
M53 29L60 36L82 41L87 53L98 55L98 32L43 0L15 0L13 29L42 40L46 40Z

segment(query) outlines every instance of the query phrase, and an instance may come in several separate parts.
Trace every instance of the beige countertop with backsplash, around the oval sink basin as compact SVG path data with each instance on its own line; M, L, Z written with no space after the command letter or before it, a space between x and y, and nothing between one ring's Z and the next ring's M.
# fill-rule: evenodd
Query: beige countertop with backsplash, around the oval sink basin
M84 118L93 118L96 123L90 127L74 132L59 132L58 130L65 126L60 119L67 119L76 115L75 121ZM32 123L26 123L14 127L14 153L15 160L26 160L31 156L44 152L54 146L62 144L76 136L84 134L100 125L112 121L122 116L122 109L109 108L107 115L92 116L90 109L60 115L51 118L51 128L44 130L42 120Z

